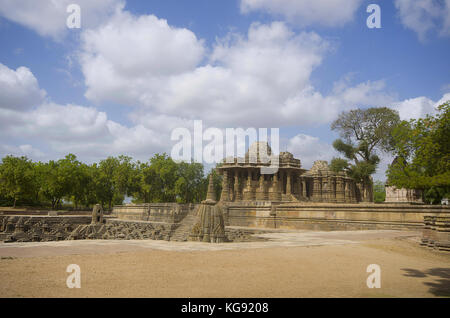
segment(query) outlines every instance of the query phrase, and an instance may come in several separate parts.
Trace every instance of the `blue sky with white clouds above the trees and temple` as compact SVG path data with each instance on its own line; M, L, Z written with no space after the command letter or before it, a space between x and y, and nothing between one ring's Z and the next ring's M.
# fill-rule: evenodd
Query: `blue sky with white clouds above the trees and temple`
M278 127L310 168L341 111L450 99L450 0L0 0L0 42L2 157L146 160L203 120Z

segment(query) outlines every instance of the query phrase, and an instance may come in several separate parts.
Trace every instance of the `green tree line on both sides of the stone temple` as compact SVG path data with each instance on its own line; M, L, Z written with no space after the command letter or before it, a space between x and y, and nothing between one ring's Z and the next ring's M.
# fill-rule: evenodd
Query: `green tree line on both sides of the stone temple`
M440 105L434 116L410 121L401 121L387 107L351 110L341 113L331 128L341 137L333 146L344 158L334 158L330 168L364 184L366 197L384 200L384 185L373 184L371 178L380 151L395 156L387 170L389 185L421 189L430 203L450 195L450 102ZM219 198L221 179L212 173ZM63 201L75 208L100 202L111 209L126 196L135 203L190 203L205 198L207 185L202 164L176 163L166 154L156 154L148 162L108 157L91 165L73 154L46 163L6 156L0 164L1 205L55 209Z

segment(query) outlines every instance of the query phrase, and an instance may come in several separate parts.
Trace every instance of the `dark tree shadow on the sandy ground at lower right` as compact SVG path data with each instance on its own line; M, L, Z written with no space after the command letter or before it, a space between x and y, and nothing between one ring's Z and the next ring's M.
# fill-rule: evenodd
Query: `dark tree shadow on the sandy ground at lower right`
M420 271L412 268L402 268L405 276L434 279L433 282L425 282L430 287L430 293L435 296L450 297L450 268L431 268Z

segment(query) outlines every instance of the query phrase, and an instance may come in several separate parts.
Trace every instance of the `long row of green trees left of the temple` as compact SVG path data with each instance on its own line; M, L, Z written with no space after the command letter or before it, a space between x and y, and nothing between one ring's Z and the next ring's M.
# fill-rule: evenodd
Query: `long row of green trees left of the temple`
M212 173L220 193L220 176ZM148 162L118 156L85 164L69 154L48 162L6 156L0 163L0 204L4 206L56 209L64 201L74 208L101 203L111 209L126 196L135 203L193 203L206 197L207 187L202 164L176 163L166 154L156 154Z

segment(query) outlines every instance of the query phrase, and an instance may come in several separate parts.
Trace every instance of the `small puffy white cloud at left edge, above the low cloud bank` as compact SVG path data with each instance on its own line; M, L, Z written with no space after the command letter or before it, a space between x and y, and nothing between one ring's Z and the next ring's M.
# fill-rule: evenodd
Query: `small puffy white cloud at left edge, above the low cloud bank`
M14 71L0 63L0 109L27 109L39 105L45 95L28 68Z

